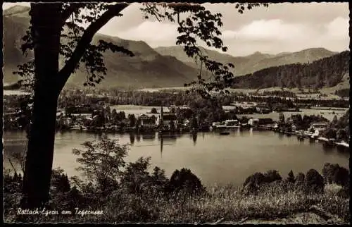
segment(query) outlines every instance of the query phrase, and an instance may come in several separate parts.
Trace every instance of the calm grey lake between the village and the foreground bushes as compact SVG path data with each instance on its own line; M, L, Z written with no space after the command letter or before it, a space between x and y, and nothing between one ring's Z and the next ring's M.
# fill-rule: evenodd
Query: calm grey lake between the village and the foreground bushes
M272 131L236 130L230 135L219 133L197 133L196 135L144 135L109 134L120 143L132 144L126 161L139 157L151 157L154 166L165 169L170 176L175 169L190 168L203 184L240 186L247 176L255 172L276 169L287 177L306 173L310 168L321 172L325 162L348 168L349 153L336 149L323 149L318 142L300 142L295 136L287 137ZM60 166L69 176L77 175L79 165L72 154L73 148L82 148L82 142L99 139L94 133L76 131L56 133L54 168ZM25 133L4 133L4 167L11 168L8 154L19 152L25 147Z

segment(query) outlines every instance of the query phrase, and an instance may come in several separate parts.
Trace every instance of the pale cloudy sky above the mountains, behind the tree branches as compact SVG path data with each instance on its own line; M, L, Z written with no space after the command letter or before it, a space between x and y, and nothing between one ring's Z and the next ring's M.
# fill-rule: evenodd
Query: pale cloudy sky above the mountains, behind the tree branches
M5 3L3 8L28 3ZM222 41L227 54L246 56L260 51L266 54L301 51L323 47L344 51L349 46L348 3L280 3L257 7L243 14L235 4L203 4L213 13L222 14ZM142 40L151 47L175 46L177 25L145 20L139 8L131 4L123 17L113 18L99 30L122 39Z

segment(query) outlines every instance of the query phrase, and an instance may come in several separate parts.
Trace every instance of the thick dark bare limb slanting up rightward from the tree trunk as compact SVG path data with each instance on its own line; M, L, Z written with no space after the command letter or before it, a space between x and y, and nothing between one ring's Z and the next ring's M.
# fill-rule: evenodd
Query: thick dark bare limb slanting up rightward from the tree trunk
M58 79L60 82L58 87L60 90L67 82L73 70L75 70L75 66L77 66L77 63L80 62L80 59L84 54L84 51L86 50L90 42L92 42L92 39L96 34L96 32L98 32L101 29L101 27L103 27L103 25L106 25L106 23L108 23L108 21L111 20L111 18L113 18L114 16L118 16L120 12L127 6L129 6L129 4L127 3L115 4L113 6L109 6L108 10L105 13L103 13L101 17L99 17L97 20L92 22L92 24L89 25L89 27L87 27L80 41L77 43L77 47L75 48L75 51L73 51L72 56L67 61L65 66L63 66L63 68L58 73Z

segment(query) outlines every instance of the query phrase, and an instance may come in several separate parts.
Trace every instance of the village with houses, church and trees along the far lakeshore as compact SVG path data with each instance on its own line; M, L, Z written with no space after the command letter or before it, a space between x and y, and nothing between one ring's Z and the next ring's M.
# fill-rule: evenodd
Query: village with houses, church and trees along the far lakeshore
M30 105L29 105L30 106ZM233 102L222 106L225 115L222 121L207 121L208 118L195 114L187 105L150 107L138 114L126 114L111 108L103 101L97 104L82 104L70 108L58 109L56 114L57 130L77 130L94 133L196 133L213 131L220 135L229 135L234 130L272 130L287 136L296 136L298 140L322 142L324 147L349 149L346 128L337 123L337 116L328 121L322 115L307 116L299 108L310 108L308 104L268 104L268 102ZM89 109L90 111L87 111ZM334 108L327 108L333 110ZM4 129L13 130L28 125L26 108L7 108L4 115ZM142 113L143 112L143 113ZM279 119L268 118L272 112L279 113ZM284 112L294 113L285 119ZM209 113L208 113L209 114ZM251 115L256 114L256 117ZM329 114L334 114L334 111ZM348 113L346 113L348 116ZM346 115L345 114L345 115ZM241 117L237 117L242 115ZM245 116L243 116L245 115ZM258 117L261 116L261 117ZM344 117L344 116L342 116ZM341 117L341 118L342 118ZM22 126L21 126L22 125ZM339 126L340 125L340 126ZM348 130L348 129L347 129Z

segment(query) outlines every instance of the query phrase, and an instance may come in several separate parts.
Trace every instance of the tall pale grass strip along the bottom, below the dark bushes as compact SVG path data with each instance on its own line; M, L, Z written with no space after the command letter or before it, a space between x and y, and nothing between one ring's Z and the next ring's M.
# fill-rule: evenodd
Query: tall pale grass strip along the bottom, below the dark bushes
M136 195L119 188L106 199L100 197L88 200L90 196L94 195L92 188L90 193L85 190L77 192L75 188L70 192L58 192L52 195L55 200L51 200L51 208L48 209L70 209L69 205L62 207L58 207L58 205L72 203L73 207L80 209L103 210L103 215L49 215L40 216L40 219L32 219L32 221L193 223L195 221L217 221L222 218L227 221L239 221L244 218L275 219L275 217L286 216L294 212L308 211L312 205L317 205L331 214L338 215L345 223L349 219L349 198L341 197L332 192L306 195L302 190L296 189L292 185L287 188L283 184L263 187L258 195L244 195L232 187L210 188L208 193L199 196L180 194L175 197L152 193ZM8 194L6 194L6 198L9 198ZM13 198L16 197L13 195ZM6 221L29 221L20 218L21 216L15 216L13 212L5 214Z

